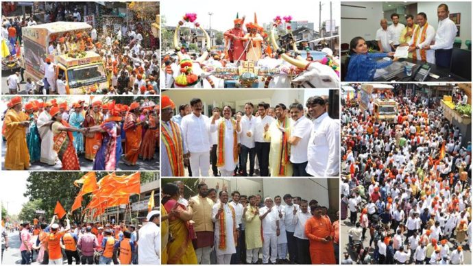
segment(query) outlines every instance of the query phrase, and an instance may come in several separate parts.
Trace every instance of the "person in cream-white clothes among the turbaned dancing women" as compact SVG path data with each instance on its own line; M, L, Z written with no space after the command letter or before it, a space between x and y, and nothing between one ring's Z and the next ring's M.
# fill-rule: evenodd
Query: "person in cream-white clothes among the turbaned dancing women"
M49 121L51 121L51 116L48 112L41 112L37 122L38 131L41 137L40 162L54 165L58 154L53 151L53 131L49 128L49 125L47 125Z

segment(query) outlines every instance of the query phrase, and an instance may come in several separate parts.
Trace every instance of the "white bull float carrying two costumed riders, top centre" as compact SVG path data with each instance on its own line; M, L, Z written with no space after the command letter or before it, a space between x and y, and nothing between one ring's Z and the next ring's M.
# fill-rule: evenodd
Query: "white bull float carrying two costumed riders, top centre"
M291 16L284 16L285 23L291 23ZM239 23L243 24L244 19L238 18ZM185 49L178 41L180 36L180 27L190 23L193 27L201 30L206 37L206 49L202 56L191 60L185 53ZM178 87L203 87L203 88L338 88L339 86L339 65L334 60L324 57L321 60L309 62L302 58L301 53L293 44L294 57L289 56L287 51L280 49L276 43L274 32L276 27L282 23L280 16L274 19L273 29L268 36L259 27L256 21L256 14L253 23L247 23L247 29L251 34L244 37L238 37L238 40L244 41L244 47L241 47L240 56L236 53L234 62L226 62L223 66L217 60L207 60L208 55L212 53L210 47L210 37L206 30L197 22L197 14L187 13L175 27L173 45L175 53L178 56L177 66L173 66L173 80ZM291 29L289 28L289 31ZM232 36L232 34L230 34ZM232 47L226 40L225 49ZM263 43L263 44L262 44ZM260 56L262 49L265 48L267 54L273 56L272 51L276 51L277 58L270 56ZM272 49L271 49L272 47ZM225 51L226 58L230 51ZM218 53L218 51L217 51ZM230 57L230 61L231 61Z

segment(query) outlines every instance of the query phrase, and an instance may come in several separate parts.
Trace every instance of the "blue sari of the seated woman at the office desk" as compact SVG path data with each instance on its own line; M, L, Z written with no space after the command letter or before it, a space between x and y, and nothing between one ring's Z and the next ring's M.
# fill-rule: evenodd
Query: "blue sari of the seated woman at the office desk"
M376 69L383 69L393 61L379 62L374 58L384 58L387 53L361 53L352 54L348 62L348 71L345 82L372 82Z

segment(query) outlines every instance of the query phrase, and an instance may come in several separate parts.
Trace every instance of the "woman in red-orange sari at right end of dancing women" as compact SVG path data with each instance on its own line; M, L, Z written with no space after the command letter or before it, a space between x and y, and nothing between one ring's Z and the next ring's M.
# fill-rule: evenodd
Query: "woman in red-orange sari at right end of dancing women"
M153 160L156 153L156 143L158 142L158 115L156 110L149 110L148 114L148 123L144 125L147 130L140 148L140 157L143 160Z

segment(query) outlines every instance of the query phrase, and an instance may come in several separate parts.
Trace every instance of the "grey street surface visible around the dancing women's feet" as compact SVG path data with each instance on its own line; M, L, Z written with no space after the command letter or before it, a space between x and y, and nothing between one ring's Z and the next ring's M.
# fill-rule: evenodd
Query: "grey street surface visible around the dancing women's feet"
M6 153L6 143L3 142L1 145L1 168L5 169L5 153ZM79 156L80 169L82 171L92 170L93 161L86 160L84 156ZM56 165L47 165L43 162L32 162L29 167L29 171L61 171L61 162L56 162ZM156 152L154 160L143 161L138 159L136 165L128 166L125 165L122 161L119 162L117 171L158 171L159 169L159 154Z

